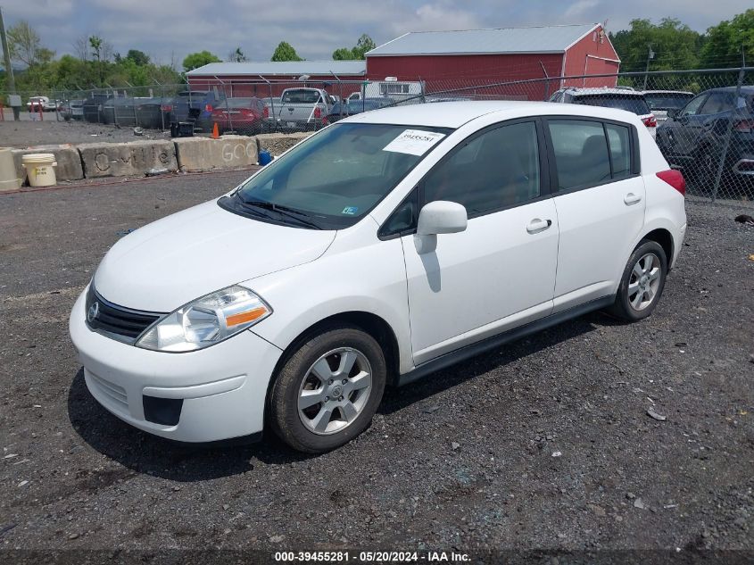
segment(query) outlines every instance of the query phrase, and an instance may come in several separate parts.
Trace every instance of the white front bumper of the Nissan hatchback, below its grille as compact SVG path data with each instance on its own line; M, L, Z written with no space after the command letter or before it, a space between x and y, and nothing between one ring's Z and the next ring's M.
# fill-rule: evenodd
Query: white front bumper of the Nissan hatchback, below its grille
M87 388L105 409L136 428L181 442L261 432L269 378L282 353L278 347L244 331L190 353L141 349L88 328L86 293L70 313L70 338ZM161 406L173 411L174 421L161 414Z

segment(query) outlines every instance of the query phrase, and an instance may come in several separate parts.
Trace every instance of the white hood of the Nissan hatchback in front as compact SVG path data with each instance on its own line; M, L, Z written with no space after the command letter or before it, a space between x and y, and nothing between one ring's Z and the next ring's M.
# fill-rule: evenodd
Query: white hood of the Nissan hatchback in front
M123 237L97 268L95 288L120 306L172 312L220 288L314 261L335 236L244 218L212 201Z

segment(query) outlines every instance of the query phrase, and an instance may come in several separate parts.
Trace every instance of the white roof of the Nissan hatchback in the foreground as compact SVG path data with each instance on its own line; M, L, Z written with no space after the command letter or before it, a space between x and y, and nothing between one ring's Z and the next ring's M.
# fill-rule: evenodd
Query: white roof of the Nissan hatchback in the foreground
M501 120L528 116L588 116L606 120L635 123L632 112L601 106L578 104L552 104L551 102L485 101L444 102L443 104L404 104L358 113L341 121L350 123L382 123L430 128L460 128L469 121L491 113L499 114Z

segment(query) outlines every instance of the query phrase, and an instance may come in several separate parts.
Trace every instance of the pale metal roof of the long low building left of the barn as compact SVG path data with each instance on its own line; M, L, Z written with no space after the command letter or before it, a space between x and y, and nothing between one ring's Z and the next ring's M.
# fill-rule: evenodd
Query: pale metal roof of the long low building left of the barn
M254 61L254 62L211 62L194 71L189 77L214 77L228 75L250 75L256 77L301 75L363 76L367 73L366 61Z

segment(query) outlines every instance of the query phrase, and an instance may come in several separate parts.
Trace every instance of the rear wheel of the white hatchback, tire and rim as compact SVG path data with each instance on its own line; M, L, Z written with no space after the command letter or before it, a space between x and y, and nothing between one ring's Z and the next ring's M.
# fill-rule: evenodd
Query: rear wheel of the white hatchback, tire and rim
M645 258L648 256L653 258L651 260L652 267L657 267L659 269L656 285L653 284L654 279L650 280L650 276L644 280L634 272L634 266L637 266L637 264L640 268L642 264L647 264ZM628 262L626 262L626 269L623 270L623 275L620 279L620 286L617 288L615 303L609 307L608 312L621 320L629 322L639 321L649 317L657 307L657 303L659 303L659 298L665 288L666 278L667 256L665 250L655 241L642 239L639 245L636 246L636 249L634 249L634 253L631 253ZM640 286L634 287L634 284ZM650 288L652 292L651 300L643 300L648 294L642 292L642 284L644 284L644 288ZM639 295L639 293L642 293L642 295ZM637 295L639 295L638 299ZM637 302L638 307L637 305L634 305Z

